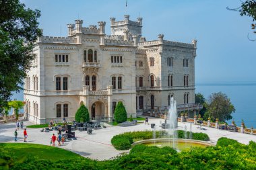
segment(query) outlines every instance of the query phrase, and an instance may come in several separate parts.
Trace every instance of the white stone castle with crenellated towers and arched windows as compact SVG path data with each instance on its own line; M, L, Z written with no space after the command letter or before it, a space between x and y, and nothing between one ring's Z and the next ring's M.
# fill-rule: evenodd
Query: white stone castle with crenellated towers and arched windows
M24 80L25 113L34 124L75 118L81 104L92 120L112 120L119 101L128 116L141 112L163 113L170 98L179 110L195 112L195 56L191 44L164 40L147 41L142 36L142 18L137 22L110 18L82 27L82 20L67 24L67 37L41 36L36 57ZM192 112L191 112L192 113Z

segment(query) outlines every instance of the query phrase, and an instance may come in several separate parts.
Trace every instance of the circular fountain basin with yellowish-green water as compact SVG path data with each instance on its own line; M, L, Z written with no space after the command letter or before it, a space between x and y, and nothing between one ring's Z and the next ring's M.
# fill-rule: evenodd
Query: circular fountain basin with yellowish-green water
M134 142L132 146L136 144L146 144L147 146L158 146L158 147L164 147L164 146L170 146L173 147L174 140L174 147L175 149L180 152L184 151L185 149L192 148L192 147L201 147L205 148L207 146L214 146L214 144L210 142L205 142L202 140L192 140L192 139L183 139L183 138L156 138L156 139L148 139L148 140L140 140L137 142Z

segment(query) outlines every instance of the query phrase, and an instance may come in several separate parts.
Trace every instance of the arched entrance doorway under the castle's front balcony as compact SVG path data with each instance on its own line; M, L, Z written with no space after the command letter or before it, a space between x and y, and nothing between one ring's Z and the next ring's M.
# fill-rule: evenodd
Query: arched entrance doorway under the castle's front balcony
M92 104L91 108L91 118L92 120L101 120L104 119L106 115L105 105L102 101L96 101Z

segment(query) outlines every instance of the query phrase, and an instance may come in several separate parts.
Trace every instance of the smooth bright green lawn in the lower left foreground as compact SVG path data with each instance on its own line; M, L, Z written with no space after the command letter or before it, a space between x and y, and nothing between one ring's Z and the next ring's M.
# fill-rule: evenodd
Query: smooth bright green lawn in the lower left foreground
M61 159L82 158L76 153L66 151L63 148L54 146L46 146L42 144L28 144L28 143L0 143L0 148L3 148L9 153L13 153L17 160L25 157L38 157L38 159L47 159L52 161L59 161Z

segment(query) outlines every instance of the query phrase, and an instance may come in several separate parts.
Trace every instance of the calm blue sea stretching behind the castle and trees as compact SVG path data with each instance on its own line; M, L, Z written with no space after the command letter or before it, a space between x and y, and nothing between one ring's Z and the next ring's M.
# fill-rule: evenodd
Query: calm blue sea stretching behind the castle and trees
M195 93L203 94L205 99L212 93L225 93L236 109L232 114L236 125L241 126L243 119L247 128L256 128L256 82L196 83L195 88ZM11 98L23 101L23 91ZM228 124L232 120L228 120Z

